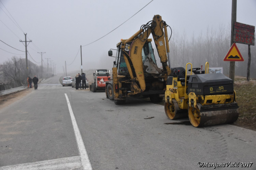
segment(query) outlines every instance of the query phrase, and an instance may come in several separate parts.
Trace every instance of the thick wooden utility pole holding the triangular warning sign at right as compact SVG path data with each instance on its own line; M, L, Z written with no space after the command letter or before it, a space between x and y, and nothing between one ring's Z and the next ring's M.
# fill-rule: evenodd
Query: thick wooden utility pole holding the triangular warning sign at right
M230 47L233 45L234 25L236 22L236 3L237 0L232 0L232 12L231 12L231 36ZM235 62L229 62L229 78L235 81Z

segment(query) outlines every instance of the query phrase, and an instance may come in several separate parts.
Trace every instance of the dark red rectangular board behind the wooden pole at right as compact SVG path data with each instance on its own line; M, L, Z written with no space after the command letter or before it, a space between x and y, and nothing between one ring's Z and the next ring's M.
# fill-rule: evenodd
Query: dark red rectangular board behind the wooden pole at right
M254 32L255 27L253 25L235 22L233 42L254 46Z

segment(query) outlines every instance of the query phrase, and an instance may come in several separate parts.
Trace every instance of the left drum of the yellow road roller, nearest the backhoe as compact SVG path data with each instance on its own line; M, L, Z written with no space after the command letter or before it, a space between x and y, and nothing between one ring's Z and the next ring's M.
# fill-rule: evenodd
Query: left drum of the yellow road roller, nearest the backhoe
M166 116L170 120L184 118L184 117L187 117L187 115L188 115L186 109L179 108L178 102L175 99L172 99L172 103L164 104L164 111L165 111Z

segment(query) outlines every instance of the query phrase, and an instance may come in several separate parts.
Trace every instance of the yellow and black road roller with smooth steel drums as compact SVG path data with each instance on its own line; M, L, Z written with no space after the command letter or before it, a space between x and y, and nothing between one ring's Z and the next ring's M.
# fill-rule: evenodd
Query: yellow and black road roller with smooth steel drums
M187 66L190 65L190 75ZM238 105L233 80L222 73L209 74L191 63L171 68L165 91L165 114L171 119L189 117L194 127L233 123L238 118Z

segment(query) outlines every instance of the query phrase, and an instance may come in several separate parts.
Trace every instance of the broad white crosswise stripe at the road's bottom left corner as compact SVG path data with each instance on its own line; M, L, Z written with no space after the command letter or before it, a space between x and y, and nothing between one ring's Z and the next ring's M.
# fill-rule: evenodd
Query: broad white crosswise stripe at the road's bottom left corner
M1 170L48 170L48 169L82 169L79 156L60 158L52 160L44 160L35 163L26 163L19 165L2 166Z

